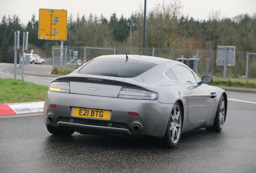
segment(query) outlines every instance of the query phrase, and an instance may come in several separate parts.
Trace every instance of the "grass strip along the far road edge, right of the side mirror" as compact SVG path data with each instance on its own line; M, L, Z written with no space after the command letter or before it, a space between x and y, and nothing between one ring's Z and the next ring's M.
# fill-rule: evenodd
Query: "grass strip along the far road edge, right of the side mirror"
M245 82L246 80L242 78L213 77L213 82L211 83L211 85L256 89L256 79L248 79L247 84L245 84Z

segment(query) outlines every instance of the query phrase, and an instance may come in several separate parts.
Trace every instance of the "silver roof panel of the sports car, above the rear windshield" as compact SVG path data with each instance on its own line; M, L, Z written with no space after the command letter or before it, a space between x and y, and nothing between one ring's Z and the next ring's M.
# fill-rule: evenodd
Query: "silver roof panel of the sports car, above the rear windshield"
M154 64L161 64L162 62L169 62L173 60L169 60L166 58L159 58L155 56L145 56L145 55L130 55L128 54L128 60L140 60L145 62L151 62ZM98 56L94 59L126 59L126 54L118 54L118 55L103 55Z

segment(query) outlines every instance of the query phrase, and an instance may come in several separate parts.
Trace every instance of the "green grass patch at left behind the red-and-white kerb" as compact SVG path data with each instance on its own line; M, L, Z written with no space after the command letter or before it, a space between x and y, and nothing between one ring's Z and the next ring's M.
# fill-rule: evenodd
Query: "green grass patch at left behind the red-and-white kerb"
M49 88L11 78L0 78L0 85L0 104L44 101Z

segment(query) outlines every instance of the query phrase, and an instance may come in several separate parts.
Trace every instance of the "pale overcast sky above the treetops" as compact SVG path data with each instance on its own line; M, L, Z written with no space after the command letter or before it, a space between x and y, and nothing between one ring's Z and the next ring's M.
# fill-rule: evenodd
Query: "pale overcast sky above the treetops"
M0 0L0 18L4 15L17 14L25 25L34 13L38 20L39 8L65 9L76 18L90 13L100 16L103 14L107 19L116 12L118 18L123 14L129 18L132 12L144 9L145 0ZM165 0L171 2L171 0ZM162 0L147 0L147 12L156 4L162 4ZM211 11L221 10L221 17L232 18L239 14L256 12L256 0L181 0L182 14L193 17L196 20L208 19Z

